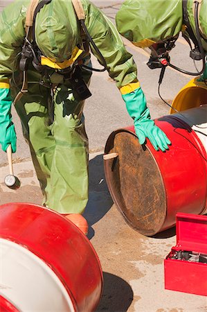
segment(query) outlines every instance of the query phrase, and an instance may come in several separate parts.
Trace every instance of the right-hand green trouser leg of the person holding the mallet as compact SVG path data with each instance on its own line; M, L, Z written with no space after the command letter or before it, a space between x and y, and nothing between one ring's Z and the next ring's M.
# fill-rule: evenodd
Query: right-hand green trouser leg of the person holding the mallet
M51 165L52 194L48 207L62 214L82 214L88 201L88 138L84 128L84 101L60 85L55 93L55 121L51 132L55 150Z

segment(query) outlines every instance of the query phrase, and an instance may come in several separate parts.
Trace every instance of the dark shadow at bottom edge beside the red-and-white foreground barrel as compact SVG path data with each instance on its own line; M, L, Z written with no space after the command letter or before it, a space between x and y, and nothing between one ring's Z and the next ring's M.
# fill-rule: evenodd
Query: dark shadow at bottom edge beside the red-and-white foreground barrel
M132 304L134 293L131 286L120 277L103 272L104 286L96 312L125 312Z

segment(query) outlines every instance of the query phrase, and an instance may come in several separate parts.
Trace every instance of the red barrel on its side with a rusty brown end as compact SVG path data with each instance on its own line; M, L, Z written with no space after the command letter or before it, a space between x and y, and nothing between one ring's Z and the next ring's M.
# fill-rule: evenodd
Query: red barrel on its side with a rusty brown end
M118 155L105 160L109 191L127 223L141 234L152 236L172 227L177 212L206 211L206 109L155 120L172 142L165 153L148 140L141 146L134 126L109 136L105 154Z

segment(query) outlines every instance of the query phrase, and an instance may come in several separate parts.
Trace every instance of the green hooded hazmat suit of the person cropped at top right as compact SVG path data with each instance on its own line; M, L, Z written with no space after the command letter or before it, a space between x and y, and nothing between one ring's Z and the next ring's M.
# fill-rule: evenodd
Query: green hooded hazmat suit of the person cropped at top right
M188 19L195 31L194 0L187 1ZM199 9L199 30L207 51L207 1ZM116 14L116 26L121 35L141 48L163 42L185 32L182 0L125 0Z

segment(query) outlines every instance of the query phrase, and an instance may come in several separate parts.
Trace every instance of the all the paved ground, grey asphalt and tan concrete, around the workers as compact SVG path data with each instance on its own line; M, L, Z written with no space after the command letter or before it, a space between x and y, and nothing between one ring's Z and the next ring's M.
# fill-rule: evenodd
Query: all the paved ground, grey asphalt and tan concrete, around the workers
M0 10L10 2L12 1L0 0ZM123 1L93 2L114 21ZM152 118L168 114L169 107L163 104L157 94L159 71L147 68L148 56L141 49L132 46L127 40L125 46L138 64L138 77L146 94ZM188 55L188 45L180 38L177 48L172 53L173 64L191 70L192 64ZM93 60L93 64L96 65L96 60ZM189 76L167 69L161 87L162 96L172 103L175 94L188 80ZM129 118L118 89L107 73L94 73L90 89L93 96L85 105L90 147L89 203L84 216L90 225L88 237L96 249L104 272L104 290L96 312L207 311L206 297L167 291L164 288L163 259L176 244L175 229L172 228L153 238L143 236L125 223L111 200L105 181L102 153L111 131L132 125L132 119ZM21 180L21 187L12 191L4 185L8 166L5 153L0 151L0 205L6 202L41 204L42 193L14 109L12 116L17 130L17 153L13 155L14 170Z

